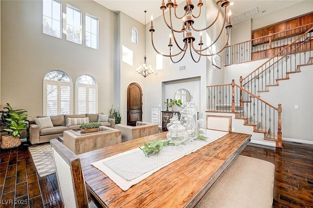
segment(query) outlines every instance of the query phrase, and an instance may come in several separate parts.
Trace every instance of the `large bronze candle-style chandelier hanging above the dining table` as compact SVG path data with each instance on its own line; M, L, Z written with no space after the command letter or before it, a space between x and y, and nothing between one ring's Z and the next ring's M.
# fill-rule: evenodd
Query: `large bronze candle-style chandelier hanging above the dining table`
M151 40L152 40L152 46L153 48L156 50L156 52L162 56L165 56L165 57L170 57L171 58L171 61L173 63L178 63L185 55L188 47L189 47L189 50L190 50L190 54L191 54L191 57L192 57L192 60L196 63L198 63L200 61L200 58L201 56L213 56L213 55L216 55L216 54L219 54L220 52L222 52L224 50L224 48L227 46L227 43L228 43L228 39L229 39L229 33L230 33L230 28L232 27L232 25L230 24L230 15L231 15L231 12L229 10L229 13L228 13L228 21L227 21L227 24L225 26L225 29L226 29L226 34L227 34L227 38L226 38L226 42L225 42L225 45L223 46L223 48L216 52L216 53L211 53L211 54L207 54L205 51L210 48L211 46L213 46L217 40L220 38L223 30L224 30L224 25L225 25L225 18L226 18L226 7L230 4L228 0L218 0L216 2L217 5L219 5L219 11L216 15L216 18L215 20L209 24L208 26L206 26L205 28L203 29L196 29L194 28L193 24L195 22L194 19L192 18L199 18L200 15L201 15L201 6L203 5L202 3L202 0L199 0L198 2L198 7L200 8L200 11L199 11L199 15L198 16L195 16L193 13L192 13L192 10L194 9L195 5L192 3L192 0L186 0L186 4L184 6L184 10L185 10L185 13L183 16L181 17L178 17L177 16L177 13L176 13L176 9L178 8L178 4L176 2L176 0L174 0L174 3L172 2L172 0L168 0L167 1L167 4L165 5L164 3L164 0L162 0L162 5L160 7L160 9L162 10L163 12L163 19L164 19L164 22L166 24L166 26L171 30L171 33L170 33L170 41L169 41L169 54L163 54L163 53L160 53L156 50L156 46L153 42L153 32L155 32L155 29L154 29L154 26L153 26L153 16L151 16L151 27L150 27L150 32L151 32ZM202 31L205 31L206 29L210 28L215 22L216 20L218 19L219 17L219 14L221 12L221 7L224 8L224 19L223 19L223 26L220 30L220 33L218 35L218 37L212 42L212 44L210 46L207 46L207 47L204 47L202 48ZM169 8L169 20L170 22L168 23L165 19L165 10L166 8ZM175 17L177 19L182 19L182 29L175 29L174 28L174 25L172 25L172 9L174 8L174 13L175 13ZM195 48L194 46L194 42L196 40L196 38L192 35L192 32L195 31L195 32L200 32L200 41L199 41L199 48ZM175 35L176 34L179 34L179 33L182 33L182 36L183 36L183 42L184 42L184 45L183 46L180 46L176 40L176 37ZM174 42L176 44L176 46L179 48L179 52L178 53L175 53L175 54L172 54L172 37L174 39ZM192 52L192 50L194 52ZM199 55L199 59L195 59L194 58L194 55L193 54L197 54ZM178 56L180 55L181 57L179 58L178 61L173 61L172 57L174 56Z

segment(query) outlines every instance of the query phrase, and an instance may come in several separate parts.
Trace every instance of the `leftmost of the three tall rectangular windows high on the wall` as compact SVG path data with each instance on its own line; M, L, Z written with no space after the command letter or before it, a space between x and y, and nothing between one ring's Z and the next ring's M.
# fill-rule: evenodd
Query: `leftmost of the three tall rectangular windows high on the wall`
M43 0L43 33L61 38L61 1Z

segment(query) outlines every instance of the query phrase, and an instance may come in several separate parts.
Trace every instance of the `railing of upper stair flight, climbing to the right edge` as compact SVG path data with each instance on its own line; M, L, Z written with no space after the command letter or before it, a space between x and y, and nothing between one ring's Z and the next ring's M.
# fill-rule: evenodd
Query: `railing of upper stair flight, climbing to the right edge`
M289 73L298 72L299 65L307 64L313 55L312 50L313 27L244 77L242 87L255 95L268 92L268 87L277 86L279 80L288 79Z

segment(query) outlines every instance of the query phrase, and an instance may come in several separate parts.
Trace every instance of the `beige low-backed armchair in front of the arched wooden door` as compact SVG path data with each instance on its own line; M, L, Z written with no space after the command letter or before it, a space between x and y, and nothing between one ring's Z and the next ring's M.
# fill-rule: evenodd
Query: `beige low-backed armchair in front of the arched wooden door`
M127 126L124 124L116 124L115 129L122 131L122 142L138 139L158 133L158 125L155 123L147 123L137 121L136 126Z

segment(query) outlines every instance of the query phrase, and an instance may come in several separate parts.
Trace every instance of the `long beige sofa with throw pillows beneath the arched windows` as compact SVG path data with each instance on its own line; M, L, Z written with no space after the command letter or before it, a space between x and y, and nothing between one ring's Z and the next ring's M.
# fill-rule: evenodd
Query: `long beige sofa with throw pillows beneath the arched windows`
M37 116L37 118L46 116ZM77 131L80 129L81 124L67 126L67 118L85 118L89 117L89 122L97 122L98 114L80 114L80 115L58 115L50 116L53 127L42 128L35 123L34 120L30 121L29 125L29 141L32 144L48 142L51 139L57 139L63 136L63 132L67 130ZM101 122L103 126L111 128L115 127L115 119L108 118L108 122Z

